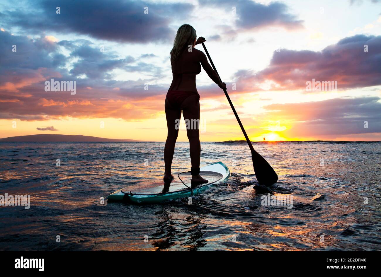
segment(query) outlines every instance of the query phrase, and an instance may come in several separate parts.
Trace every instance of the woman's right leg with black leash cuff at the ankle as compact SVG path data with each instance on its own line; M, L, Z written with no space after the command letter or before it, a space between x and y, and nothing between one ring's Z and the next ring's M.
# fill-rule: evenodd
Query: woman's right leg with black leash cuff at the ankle
M192 95L189 96L181 105L182 115L184 116L185 122L189 123L187 126L187 136L189 139L189 152L191 154L192 167L200 167L200 155L201 155L201 145L200 145L200 101L199 96ZM198 175L192 176L192 182L206 183L205 180Z

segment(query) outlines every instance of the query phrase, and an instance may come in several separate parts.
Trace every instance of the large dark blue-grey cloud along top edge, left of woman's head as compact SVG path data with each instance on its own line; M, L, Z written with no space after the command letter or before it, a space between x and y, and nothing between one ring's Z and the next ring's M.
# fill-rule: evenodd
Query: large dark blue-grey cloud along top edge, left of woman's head
M29 5L28 5L29 4ZM194 6L188 3L149 3L143 1L56 1L26 2L24 9L3 11L5 27L21 27L30 33L42 31L77 33L90 37L146 43L171 41L176 30L172 18L184 18ZM56 7L61 14L56 14ZM148 13L144 13L144 8Z

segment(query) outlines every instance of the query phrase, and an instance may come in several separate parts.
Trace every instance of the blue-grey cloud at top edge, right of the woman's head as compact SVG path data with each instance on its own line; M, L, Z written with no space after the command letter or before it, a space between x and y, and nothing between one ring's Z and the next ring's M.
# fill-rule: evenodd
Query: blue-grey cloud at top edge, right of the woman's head
M279 26L287 30L303 28L303 21L295 15L288 13L287 5L280 2L272 2L269 5L256 3L251 0L200 0L201 5L224 7L232 13L236 8L237 20L235 25L238 30L260 29L269 26Z

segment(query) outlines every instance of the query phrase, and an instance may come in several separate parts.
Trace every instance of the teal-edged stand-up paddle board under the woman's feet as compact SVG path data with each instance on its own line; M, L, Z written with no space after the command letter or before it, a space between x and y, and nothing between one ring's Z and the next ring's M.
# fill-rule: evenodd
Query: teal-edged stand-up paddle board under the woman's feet
M191 172L182 172L174 176L170 183L158 180L138 181L119 189L107 197L109 201L123 201L134 204L160 203L181 197L199 194L209 185L218 185L230 177L230 170L222 162L215 162L200 168L200 175L208 183L191 185Z

